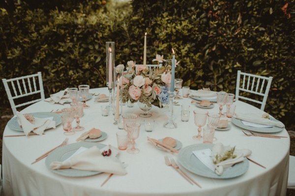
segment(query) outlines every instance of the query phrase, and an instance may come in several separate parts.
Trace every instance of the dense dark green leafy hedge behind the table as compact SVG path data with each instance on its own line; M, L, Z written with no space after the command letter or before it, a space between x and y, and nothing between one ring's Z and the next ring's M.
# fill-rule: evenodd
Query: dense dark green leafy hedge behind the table
M294 2L21 2L11 15L0 9L1 78L41 71L47 96L81 83L104 87L105 42L116 42L117 65L142 62L147 32L148 63L157 53L171 58L173 47L180 60L176 76L192 89L235 93L237 70L273 76L265 111L294 125ZM9 107L3 85L0 94Z

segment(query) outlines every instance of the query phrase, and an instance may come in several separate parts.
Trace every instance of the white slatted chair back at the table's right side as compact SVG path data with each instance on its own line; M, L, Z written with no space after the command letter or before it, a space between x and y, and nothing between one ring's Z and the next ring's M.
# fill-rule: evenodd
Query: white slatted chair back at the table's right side
M242 82L240 81L241 77L242 77ZM271 76L265 77L265 76L251 74L251 73L243 73L241 71L237 71L236 100L238 100L239 98L242 98L248 101L259 103L261 104L260 109L264 111L266 107L266 99L268 97L271 81L272 81ZM242 83L241 86L240 86L240 83ZM259 101L252 98L246 98L246 97L240 96L239 95L240 91L262 96L263 100Z

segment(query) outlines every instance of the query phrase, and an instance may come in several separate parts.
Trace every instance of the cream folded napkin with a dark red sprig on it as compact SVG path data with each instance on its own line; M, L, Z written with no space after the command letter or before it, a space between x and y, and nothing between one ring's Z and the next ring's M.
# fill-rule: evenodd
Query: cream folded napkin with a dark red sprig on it
M101 153L108 149L112 150L112 154L110 156L103 156ZM53 162L50 164L50 167L53 170L72 168L76 170L124 175L127 172L124 169L123 164L116 157L117 154L118 150L111 145L102 149L98 149L94 146L63 162Z

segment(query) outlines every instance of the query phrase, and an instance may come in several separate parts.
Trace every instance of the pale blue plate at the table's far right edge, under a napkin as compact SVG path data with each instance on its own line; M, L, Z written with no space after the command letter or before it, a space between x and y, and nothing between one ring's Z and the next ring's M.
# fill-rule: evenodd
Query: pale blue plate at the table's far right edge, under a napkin
M270 118L272 121L278 121L274 118ZM278 126L273 126L273 127L253 127L253 126L247 126L242 123L240 119L236 119L235 117L232 117L232 123L234 123L236 126L240 128L244 128L246 130L250 131L255 131L255 132L260 132L260 133L277 133L282 131L284 128L278 127Z

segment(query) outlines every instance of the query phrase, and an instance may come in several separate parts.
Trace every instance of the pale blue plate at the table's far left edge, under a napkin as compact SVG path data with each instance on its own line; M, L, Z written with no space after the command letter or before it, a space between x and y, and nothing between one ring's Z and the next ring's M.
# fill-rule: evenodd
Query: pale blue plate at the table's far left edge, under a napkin
M29 113L29 114L31 114L33 117L43 118L43 119L53 117L53 121L56 122L56 126L58 126L61 123L61 116L54 112L36 112L36 113ZM10 119L7 123L7 126L10 129L15 131L23 131L23 128L17 122L17 117Z

